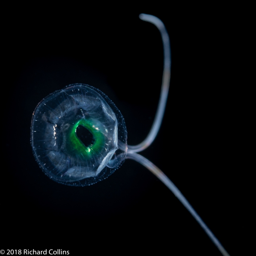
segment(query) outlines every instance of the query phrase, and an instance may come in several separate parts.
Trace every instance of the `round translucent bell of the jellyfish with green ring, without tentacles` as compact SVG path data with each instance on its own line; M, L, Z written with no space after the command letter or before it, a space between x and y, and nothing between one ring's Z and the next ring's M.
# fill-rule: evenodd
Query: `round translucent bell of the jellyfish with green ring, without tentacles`
M85 186L107 178L123 163L127 130L120 111L104 93L71 84L35 108L31 145L52 180Z

